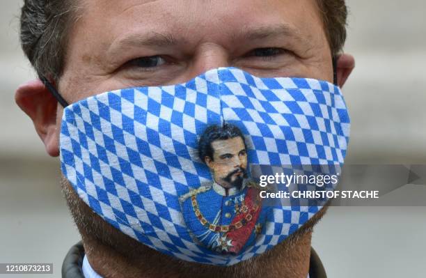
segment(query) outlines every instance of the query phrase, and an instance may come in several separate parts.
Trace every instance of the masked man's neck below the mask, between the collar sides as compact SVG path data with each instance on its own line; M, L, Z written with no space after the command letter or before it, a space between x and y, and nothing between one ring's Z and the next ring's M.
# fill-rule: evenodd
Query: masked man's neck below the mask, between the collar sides
M306 278L309 271L311 233L290 235L269 252L230 267L188 263L161 254L132 238L120 238L120 245L84 239L88 261L104 278L109 277L294 277Z

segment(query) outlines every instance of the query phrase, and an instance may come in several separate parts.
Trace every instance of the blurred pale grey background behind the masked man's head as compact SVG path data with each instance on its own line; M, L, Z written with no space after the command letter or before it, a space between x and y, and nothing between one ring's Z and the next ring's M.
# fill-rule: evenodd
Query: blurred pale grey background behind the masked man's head
M1 0L0 9L0 263L54 263L49 277L61 277L79 234L59 162L14 102L17 86L35 77L19 47L21 3ZM347 163L426 164L426 2L347 4L345 51L356 58L343 89L352 116ZM424 207L333 207L313 247L331 278L425 277L425 234Z

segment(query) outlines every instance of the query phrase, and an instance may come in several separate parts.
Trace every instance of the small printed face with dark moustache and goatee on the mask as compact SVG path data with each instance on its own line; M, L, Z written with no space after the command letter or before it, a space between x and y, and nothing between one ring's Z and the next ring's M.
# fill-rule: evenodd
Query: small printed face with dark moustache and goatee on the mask
M241 137L212 142L213 160L206 157L216 183L222 187L241 187L246 176L247 153Z

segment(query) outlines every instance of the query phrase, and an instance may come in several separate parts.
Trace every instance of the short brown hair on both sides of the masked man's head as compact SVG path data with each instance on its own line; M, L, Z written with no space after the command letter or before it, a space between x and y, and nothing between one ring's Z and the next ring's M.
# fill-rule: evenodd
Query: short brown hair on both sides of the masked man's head
M336 56L346 40L345 0L316 0L331 53ZM63 73L67 36L77 17L75 0L24 0L21 13L22 49L39 76L58 81ZM74 5L74 6L73 6Z

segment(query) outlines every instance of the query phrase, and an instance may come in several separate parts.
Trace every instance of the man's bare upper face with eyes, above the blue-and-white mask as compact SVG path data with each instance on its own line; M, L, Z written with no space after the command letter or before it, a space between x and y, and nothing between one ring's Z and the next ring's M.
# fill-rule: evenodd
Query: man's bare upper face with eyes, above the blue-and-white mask
M315 0L79 1L58 84L70 103L118 88L182 83L225 66L332 81Z

